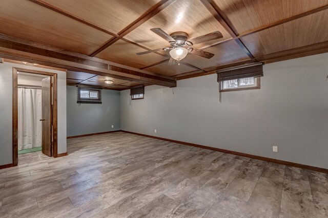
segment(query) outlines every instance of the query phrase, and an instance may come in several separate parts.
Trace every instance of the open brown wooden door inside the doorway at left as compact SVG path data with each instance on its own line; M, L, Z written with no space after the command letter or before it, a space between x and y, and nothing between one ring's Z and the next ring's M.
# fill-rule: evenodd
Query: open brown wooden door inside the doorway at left
M52 156L52 79L42 80L42 152Z

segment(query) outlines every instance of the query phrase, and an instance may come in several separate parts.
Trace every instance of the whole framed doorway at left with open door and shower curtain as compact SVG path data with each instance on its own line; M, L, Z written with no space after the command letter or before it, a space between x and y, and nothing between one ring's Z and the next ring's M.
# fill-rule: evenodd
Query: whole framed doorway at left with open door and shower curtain
M13 68L13 165L57 157L57 74ZM30 153L31 151L31 153ZM36 152L32 152L36 151ZM20 163L22 163L20 162Z

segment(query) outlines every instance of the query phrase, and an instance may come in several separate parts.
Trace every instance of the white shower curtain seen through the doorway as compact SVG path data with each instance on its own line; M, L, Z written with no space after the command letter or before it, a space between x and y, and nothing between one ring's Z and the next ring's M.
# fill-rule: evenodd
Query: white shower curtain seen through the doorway
M18 150L42 146L42 90L18 88Z

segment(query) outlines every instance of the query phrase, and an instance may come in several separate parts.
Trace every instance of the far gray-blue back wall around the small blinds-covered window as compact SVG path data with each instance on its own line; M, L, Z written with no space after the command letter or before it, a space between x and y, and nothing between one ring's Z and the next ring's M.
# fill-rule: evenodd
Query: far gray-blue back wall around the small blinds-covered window
M120 129L120 92L101 90L102 104L77 104L75 86L67 86L67 136ZM114 128L112 128L114 125Z

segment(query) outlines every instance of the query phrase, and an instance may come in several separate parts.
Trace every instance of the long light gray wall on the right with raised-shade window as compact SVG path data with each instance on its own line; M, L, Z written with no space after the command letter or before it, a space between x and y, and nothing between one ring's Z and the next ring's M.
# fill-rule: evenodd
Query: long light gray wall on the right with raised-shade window
M328 168L327 69L328 53L267 64L260 90L222 103L216 75L146 86L132 106L122 91L121 129Z

